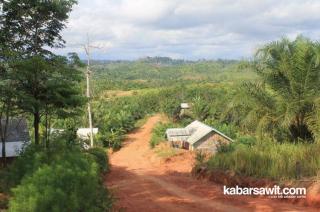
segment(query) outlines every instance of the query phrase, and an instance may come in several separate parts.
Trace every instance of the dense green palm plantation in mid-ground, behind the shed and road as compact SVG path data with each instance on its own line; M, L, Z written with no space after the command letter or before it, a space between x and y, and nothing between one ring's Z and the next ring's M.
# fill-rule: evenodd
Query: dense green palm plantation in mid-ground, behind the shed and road
M140 95L117 97L112 99L100 98L95 102L94 121L99 127L98 141L106 147L119 149L124 135L135 128L137 120L156 112L165 113L175 121L188 123L192 118L207 121L217 121L222 117L223 101L232 92L229 85L193 85L163 88L146 91ZM194 99L203 99L203 104L210 108L198 111L201 117L179 117L180 104L190 102L196 105ZM221 125L223 126L223 125Z

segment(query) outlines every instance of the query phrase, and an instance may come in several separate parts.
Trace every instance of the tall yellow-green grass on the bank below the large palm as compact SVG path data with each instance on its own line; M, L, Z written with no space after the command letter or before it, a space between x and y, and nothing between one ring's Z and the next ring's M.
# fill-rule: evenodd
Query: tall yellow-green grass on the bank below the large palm
M319 144L257 142L238 144L234 151L219 152L208 161L210 169L233 170L239 175L272 180L290 180L297 176L319 174ZM300 168L297 167L300 164ZM299 170L299 173L297 173Z

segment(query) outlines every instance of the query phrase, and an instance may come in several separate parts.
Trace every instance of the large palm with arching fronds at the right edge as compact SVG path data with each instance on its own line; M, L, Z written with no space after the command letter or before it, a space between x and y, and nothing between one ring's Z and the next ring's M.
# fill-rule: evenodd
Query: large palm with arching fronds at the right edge
M271 42L257 51L254 67L261 83L240 89L244 123L273 135L285 131L293 141L318 139L320 44L302 36Z

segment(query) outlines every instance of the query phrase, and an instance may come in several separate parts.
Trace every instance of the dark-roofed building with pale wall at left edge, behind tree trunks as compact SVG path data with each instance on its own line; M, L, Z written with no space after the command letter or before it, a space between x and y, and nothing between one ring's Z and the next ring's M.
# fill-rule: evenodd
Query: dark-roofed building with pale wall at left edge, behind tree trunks
M5 120L1 120L2 126ZM6 133L6 157L14 158L20 155L23 148L30 144L30 135L27 121L24 118L10 118ZM0 143L0 157L2 158L2 143Z

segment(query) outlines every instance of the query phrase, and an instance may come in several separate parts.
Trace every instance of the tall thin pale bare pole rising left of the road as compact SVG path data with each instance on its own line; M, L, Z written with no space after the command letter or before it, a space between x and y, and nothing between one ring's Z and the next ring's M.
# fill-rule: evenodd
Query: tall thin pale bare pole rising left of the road
M86 78L87 78L87 98L88 98L88 118L89 118L89 128L90 128L90 147L93 147L93 128L92 128L92 116L91 116L91 95L90 95L90 40L89 36L87 38L87 44L84 45L84 49L87 55L87 71L86 71Z

